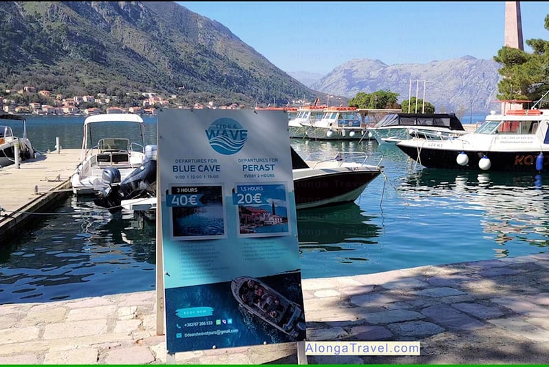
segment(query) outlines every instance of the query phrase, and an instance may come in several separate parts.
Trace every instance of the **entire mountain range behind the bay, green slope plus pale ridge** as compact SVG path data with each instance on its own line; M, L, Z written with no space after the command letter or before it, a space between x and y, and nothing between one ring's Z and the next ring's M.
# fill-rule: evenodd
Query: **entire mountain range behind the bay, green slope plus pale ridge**
M495 61L464 56L386 65L363 59L325 76L287 74L221 23L175 2L2 1L0 17L0 91L29 85L53 95L105 93L119 101L158 92L182 105L286 105L316 97L345 105L357 92L377 90L396 92L402 102L410 79L412 96L419 79L427 81L425 99L438 112L498 107ZM418 87L422 98L422 82ZM26 98L18 102L36 102Z

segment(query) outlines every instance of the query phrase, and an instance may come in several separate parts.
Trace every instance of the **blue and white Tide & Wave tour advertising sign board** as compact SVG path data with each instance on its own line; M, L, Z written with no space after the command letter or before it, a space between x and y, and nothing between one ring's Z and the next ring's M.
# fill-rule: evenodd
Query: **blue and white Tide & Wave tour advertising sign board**
M158 116L168 353L297 342L305 316L288 116Z

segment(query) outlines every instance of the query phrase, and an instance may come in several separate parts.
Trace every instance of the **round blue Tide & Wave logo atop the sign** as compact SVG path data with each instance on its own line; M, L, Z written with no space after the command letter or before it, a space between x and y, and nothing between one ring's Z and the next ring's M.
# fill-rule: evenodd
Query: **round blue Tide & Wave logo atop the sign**
M218 118L206 130L206 137L210 146L217 153L230 156L235 154L248 140L248 130L244 129L233 118Z

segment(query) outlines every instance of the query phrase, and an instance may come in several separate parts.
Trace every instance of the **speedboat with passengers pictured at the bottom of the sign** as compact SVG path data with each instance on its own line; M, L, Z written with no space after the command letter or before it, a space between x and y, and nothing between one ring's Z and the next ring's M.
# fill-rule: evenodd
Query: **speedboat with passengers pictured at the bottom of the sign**
M303 307L255 277L237 277L230 290L239 306L279 331L299 337L305 333Z

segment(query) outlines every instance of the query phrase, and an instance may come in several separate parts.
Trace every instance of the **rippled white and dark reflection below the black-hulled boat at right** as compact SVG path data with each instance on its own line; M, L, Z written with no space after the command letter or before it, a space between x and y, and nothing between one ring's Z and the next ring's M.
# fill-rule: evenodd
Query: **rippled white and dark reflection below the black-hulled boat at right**
M499 258L510 255L507 244L548 247L548 188L541 174L423 169L399 190L410 205L446 207L463 216L482 213L480 226L486 239L501 246L495 249Z

